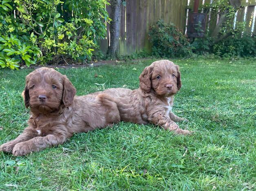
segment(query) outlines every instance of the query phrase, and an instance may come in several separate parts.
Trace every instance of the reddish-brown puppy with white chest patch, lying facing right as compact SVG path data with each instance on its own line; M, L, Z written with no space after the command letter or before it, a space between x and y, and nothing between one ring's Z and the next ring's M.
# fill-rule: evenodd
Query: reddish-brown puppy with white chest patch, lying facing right
M103 91L105 98L117 103L121 120L138 124L152 122L178 134L191 133L179 128L175 122L185 119L172 112L173 97L181 88L178 65L168 60L153 62L139 76L139 85L135 90L111 88Z

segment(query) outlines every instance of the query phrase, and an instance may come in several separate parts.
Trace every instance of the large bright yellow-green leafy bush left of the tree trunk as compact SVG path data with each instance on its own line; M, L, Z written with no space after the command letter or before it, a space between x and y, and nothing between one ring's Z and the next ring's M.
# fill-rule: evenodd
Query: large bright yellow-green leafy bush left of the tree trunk
M0 0L1 67L90 60L98 40L105 37L107 3Z

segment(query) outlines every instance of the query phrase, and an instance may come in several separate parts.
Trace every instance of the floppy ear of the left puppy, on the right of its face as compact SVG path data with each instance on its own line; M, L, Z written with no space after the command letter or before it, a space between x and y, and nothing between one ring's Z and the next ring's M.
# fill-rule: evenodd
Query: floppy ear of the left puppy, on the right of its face
M73 99L75 97L76 89L75 87L71 84L71 82L68 80L66 76L64 76L64 81L63 81L63 97L62 97L62 102L66 107L70 106L73 102Z

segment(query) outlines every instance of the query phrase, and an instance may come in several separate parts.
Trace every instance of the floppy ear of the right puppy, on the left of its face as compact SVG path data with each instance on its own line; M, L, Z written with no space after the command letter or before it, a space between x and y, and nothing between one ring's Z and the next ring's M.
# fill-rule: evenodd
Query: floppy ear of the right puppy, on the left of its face
M151 76L153 67L146 67L139 76L139 86L143 91L149 92L151 89Z

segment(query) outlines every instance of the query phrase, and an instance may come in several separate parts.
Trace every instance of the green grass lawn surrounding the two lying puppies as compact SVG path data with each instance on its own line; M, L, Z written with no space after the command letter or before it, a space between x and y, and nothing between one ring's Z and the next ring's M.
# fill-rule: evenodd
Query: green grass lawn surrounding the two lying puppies
M152 61L58 71L84 95L135 89ZM173 111L194 135L120 122L23 157L0 152L0 190L255 190L255 59L172 61L183 82ZM0 144L26 127L21 93L31 71L0 69Z

